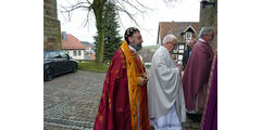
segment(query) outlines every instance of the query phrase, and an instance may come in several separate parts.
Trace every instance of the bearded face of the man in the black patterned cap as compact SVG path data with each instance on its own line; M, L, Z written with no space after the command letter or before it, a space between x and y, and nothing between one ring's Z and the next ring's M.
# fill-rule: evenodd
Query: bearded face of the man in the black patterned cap
M142 42L144 40L139 31L135 32L133 37L129 37L129 46L135 48L137 51L142 49Z

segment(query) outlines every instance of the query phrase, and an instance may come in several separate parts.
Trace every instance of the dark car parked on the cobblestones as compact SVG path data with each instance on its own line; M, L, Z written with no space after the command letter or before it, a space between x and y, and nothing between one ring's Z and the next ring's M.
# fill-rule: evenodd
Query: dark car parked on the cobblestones
M44 79L52 80L54 76L77 72L78 63L63 51L44 51Z

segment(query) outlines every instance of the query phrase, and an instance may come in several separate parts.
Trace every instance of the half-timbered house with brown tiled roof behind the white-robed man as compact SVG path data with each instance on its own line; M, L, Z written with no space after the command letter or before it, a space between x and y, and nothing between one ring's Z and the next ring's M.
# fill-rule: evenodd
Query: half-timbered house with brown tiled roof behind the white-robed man
M160 22L157 44L162 46L166 35L177 38L177 48L173 51L173 58L182 65L183 54L187 49L188 40L197 39L199 34L198 22Z

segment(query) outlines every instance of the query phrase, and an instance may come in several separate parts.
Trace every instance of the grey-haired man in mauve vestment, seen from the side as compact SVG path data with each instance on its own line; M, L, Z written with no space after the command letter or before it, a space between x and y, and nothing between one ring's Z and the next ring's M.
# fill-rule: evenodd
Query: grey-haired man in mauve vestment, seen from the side
M204 109L209 74L214 55L210 46L213 38L214 28L202 27L183 75L185 104L189 114L202 113Z

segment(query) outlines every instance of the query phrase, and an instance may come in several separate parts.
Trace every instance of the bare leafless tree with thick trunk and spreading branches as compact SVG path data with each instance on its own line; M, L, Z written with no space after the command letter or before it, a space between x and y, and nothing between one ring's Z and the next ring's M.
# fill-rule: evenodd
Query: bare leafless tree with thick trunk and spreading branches
M112 4L109 4L112 3ZM62 13L67 13L71 17L74 10L87 9L87 23L89 22L89 15L95 14L96 27L98 30L98 47L97 48L97 63L102 64L104 52L104 24L108 21L108 14L112 10L112 6L116 9L117 14L125 13L138 27L139 24L135 20L135 15L144 14L149 10L152 10L138 0L78 0L76 3L70 6L62 6ZM121 15L119 15L121 20Z

